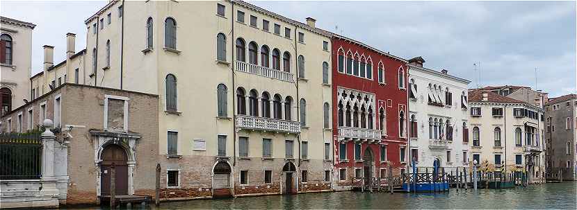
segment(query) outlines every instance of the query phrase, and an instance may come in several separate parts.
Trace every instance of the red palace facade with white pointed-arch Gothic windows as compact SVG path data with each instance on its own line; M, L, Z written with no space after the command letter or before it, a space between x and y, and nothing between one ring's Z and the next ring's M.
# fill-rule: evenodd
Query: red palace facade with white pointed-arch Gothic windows
M409 161L406 61L334 35L332 93L336 189L403 173Z

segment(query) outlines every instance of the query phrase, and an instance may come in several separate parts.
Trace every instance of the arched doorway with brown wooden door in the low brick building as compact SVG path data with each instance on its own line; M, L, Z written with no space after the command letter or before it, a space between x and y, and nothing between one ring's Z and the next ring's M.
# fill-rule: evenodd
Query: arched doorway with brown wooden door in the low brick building
M128 194L128 157L124 148L117 144L109 144L102 150L102 162L100 164L100 195L110 195L111 189L111 166L115 166L115 192L116 195Z

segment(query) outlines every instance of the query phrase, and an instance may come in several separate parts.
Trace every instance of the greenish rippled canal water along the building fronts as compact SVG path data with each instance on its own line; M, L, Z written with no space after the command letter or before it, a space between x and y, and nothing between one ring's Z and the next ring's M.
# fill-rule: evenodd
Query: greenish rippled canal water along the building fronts
M163 202L160 209L577 209L576 189L577 182L564 182L446 193L344 191Z

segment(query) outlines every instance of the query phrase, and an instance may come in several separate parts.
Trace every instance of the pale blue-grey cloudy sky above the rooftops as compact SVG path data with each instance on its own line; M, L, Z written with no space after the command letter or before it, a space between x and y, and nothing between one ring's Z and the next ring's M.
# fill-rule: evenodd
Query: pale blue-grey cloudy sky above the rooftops
M65 59L65 34L86 45L84 20L108 1L1 1L2 16L37 24L33 73L42 69L42 46ZM480 85L524 85L551 96L576 92L574 1L250 1L279 15L364 42L402 58L422 56L425 67ZM182 2L181 2L182 3ZM336 29L338 27L338 29Z

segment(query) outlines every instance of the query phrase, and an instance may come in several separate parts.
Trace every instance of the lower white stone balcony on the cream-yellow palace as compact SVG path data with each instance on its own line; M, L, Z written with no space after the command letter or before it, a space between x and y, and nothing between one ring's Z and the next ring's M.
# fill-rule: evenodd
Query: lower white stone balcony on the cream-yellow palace
M246 130L263 130L271 132L299 133L300 124L296 121L270 119L259 116L237 115L236 126Z

